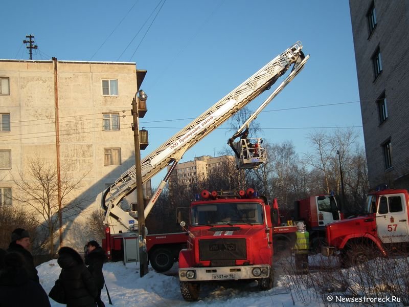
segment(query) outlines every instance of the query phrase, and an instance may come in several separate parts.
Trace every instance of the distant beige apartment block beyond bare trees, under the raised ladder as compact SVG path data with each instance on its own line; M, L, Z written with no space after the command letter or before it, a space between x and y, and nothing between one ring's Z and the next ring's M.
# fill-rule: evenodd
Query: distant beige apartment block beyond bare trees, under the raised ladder
M178 184L189 186L197 181L205 180L212 171L220 169L220 166L226 161L232 164L235 163L233 156L201 156L195 157L193 161L179 163L169 178L169 185L177 182ZM168 166L168 170L170 167Z

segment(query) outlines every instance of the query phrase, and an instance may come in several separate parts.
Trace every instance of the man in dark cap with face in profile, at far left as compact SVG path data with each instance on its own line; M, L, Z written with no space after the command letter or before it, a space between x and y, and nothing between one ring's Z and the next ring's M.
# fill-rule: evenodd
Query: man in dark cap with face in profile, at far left
M38 272L34 266L33 255L30 253L30 234L27 230L22 228L14 229L11 233L11 243L8 252L16 252L24 258L24 268L27 271L29 278L33 281L40 282L38 278Z

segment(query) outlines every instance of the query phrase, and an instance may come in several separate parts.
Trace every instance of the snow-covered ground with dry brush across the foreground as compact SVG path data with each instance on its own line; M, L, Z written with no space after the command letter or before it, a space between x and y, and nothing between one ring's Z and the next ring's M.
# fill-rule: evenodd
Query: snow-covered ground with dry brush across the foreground
M149 273L143 278L140 277L139 264L124 266L122 262L107 262L103 272L113 305L118 307L356 306L368 303L334 302L335 296L384 299L392 295L399 298L399 302L370 302L370 305L409 305L407 256L396 259L377 258L359 267L341 270L336 268L336 258L318 254L309 256L311 274L308 275L292 274L293 260L293 257L288 257L275 262L275 287L269 291L259 291L255 282L214 282L202 285L196 302L187 302L181 296L177 264L166 274L156 273L149 267ZM319 267L327 269L318 271ZM57 260L45 262L37 270L44 290L49 293L61 271ZM375 281L376 287L372 281ZM101 297L109 306L105 288ZM53 307L62 306L51 299L50 302Z

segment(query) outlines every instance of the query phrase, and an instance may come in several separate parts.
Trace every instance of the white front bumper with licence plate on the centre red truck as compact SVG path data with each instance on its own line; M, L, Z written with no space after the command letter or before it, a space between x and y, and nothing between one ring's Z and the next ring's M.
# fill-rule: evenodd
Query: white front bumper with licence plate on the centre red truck
M257 279L270 276L269 265L179 269L180 281Z

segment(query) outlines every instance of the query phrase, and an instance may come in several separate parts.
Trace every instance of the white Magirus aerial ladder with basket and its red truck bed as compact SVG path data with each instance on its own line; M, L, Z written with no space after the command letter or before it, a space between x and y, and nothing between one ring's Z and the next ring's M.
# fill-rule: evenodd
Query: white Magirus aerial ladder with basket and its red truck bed
M149 214L158 195L166 185L170 173L188 149L236 114L249 102L269 90L280 76L288 72L283 82L272 91L259 106L251 119L249 119L249 121L253 120L261 110L301 72L309 58L309 55L304 55L302 48L300 41L287 48L283 53L264 65L264 67L253 76L245 80L237 86L236 89L224 96L207 111L141 160L142 183L146 183L155 176L155 174L165 167L170 166L164 180L160 183L151 200L146 205L144 210L145 216ZM138 115L143 117L143 114ZM248 121L246 124L247 123ZM237 135L239 134L238 131ZM237 167L256 168L266 162L267 155L265 148L261 146L262 142L260 138L256 140L258 144L257 147L242 148L243 143L246 143L245 140L233 143L235 137L236 136L234 136L229 143L235 148ZM255 148L257 148L257 150L255 150ZM243 155L245 150L251 152L252 155ZM124 172L115 183L110 185L101 197L101 205L106 211L104 220L104 224L107 226L105 249L112 258L120 257L121 253L123 253L125 262L139 261L138 250L140 249L142 254L144 254L144 249L146 249L152 267L158 271L164 271L168 268L170 263L173 265L173 259L177 259L178 250L184 247L180 245L186 245L186 234L148 235L145 238L142 234L139 234L138 219L135 217L135 212L131 211L132 208L130 208L130 210L124 210L121 207L121 201L137 188L135 179L136 171L135 166L133 166ZM181 237L183 237L183 239L180 239ZM167 242L173 243L167 246L168 249L165 249L164 247L168 244ZM169 249L171 249L171 252ZM169 259L172 259L172 261L168 261Z

